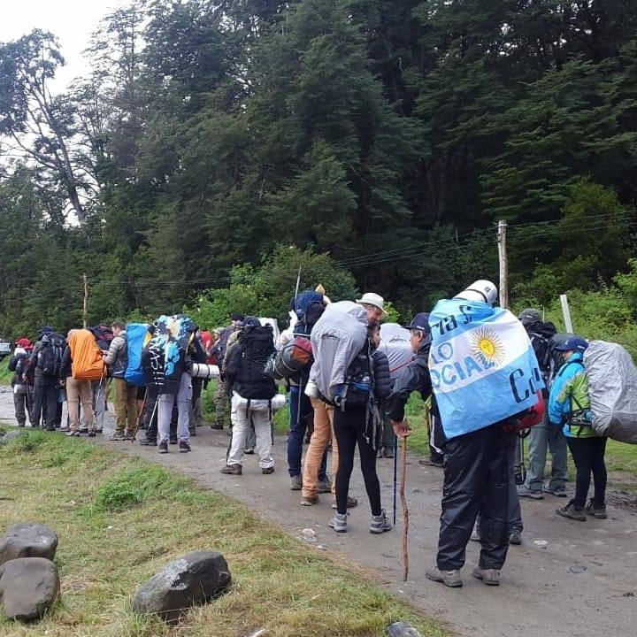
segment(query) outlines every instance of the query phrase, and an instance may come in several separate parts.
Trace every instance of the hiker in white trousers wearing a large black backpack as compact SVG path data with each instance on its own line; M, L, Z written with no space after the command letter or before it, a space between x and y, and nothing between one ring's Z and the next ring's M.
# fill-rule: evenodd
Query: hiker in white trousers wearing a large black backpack
M246 317L233 348L227 352L226 382L234 414L232 440L221 473L242 475L242 460L250 422L254 424L261 472L274 471L272 459L272 397L276 385L265 373L272 356L272 326L261 326L257 317Z

